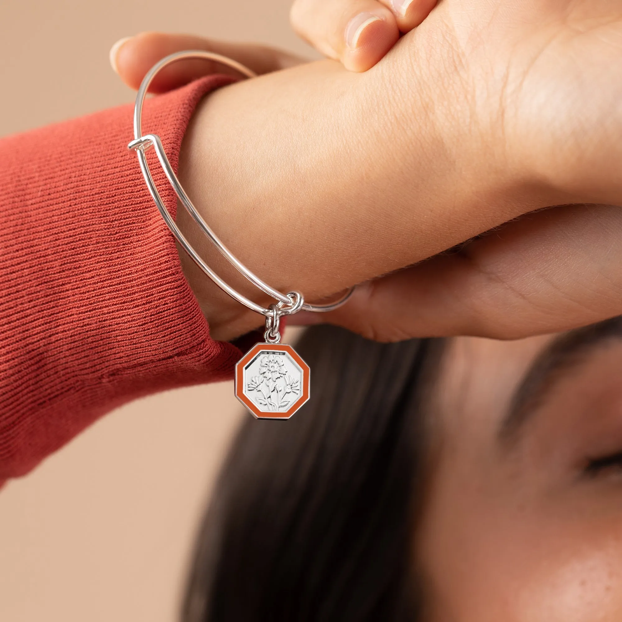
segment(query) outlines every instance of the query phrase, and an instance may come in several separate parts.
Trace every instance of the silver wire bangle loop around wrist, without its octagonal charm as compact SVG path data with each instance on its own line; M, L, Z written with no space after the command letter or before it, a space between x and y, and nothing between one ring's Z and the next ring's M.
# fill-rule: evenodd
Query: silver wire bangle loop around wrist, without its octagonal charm
M265 294L268 294L272 298L277 300L276 304L276 313L277 316L281 315L292 315L293 313L297 313L299 310L304 309L305 311L313 311L313 312L328 312L340 307L343 303L348 300L354 290L351 288L348 292L341 297L341 299L336 302L324 305L313 305L307 304L304 302L304 298L302 294L299 292L290 292L289 294L283 294L279 292L279 290L274 289L264 281L262 281L254 272L251 272L244 264L239 261L236 256L225 246L225 244L221 241L220 238L211 230L210 226L203 220L202 216L198 213L197 208L193 205L192 201L183 190L182 185L177 179L177 175L170 165L169 159L164 151L164 147L162 146L162 141L157 134L142 134L142 105L144 103L145 96L147 94L147 90L149 89L149 85L151 81L156 77L156 74L164 67L169 65L170 63L174 63L178 60L184 60L186 58L203 58L205 60L211 60L227 67L231 67L234 70L241 73L246 78L255 77L255 73L252 72L244 65L232 60L231 58L226 58L221 56L220 54L215 54L212 52L203 52L202 50L187 50L185 52L176 52L174 54L170 54L169 56L162 58L160 62L156 63L154 67L149 70L147 75L143 78L141 86L136 95L136 104L134 106L134 140L128 144L128 149L136 151L138 162L141 167L142 175L147 183L147 188L149 188L149 193L151 193L151 197L154 202L156 202L156 207L158 208L160 215L164 219L164 222L169 227L171 233L175 236L177 241L180 243L184 251L190 256L190 259L197 264L200 269L202 269L205 274L207 274L210 279L215 282L218 287L220 287L226 294L229 294L234 300L237 300L239 303L245 305L249 309L261 313L265 315L266 318L271 318L273 313L275 313L270 305L270 307L264 308L261 305L256 304L253 300L248 299L243 294L240 294L238 291L234 290L233 287L226 284L218 274L216 274L208 264L203 261L200 255L195 251L192 245L188 242L188 240L183 236L183 233L179 230L179 227L173 220L172 216L170 216L169 210L167 210L164 202L162 201L162 197L160 197L160 193L157 190L156 184L154 183L153 177L151 175L151 170L149 169L149 164L147 164L147 157L145 152L154 147L156 151L157 159L162 166L162 170L164 170L164 174L169 180L170 185L172 186L175 194L179 198L183 207L188 211L190 216L192 216L193 220L197 223L203 233L207 236L207 238L211 241L211 243L216 246L218 251L239 271L243 274L251 283L256 285L259 289L262 290ZM276 322L278 327L278 322ZM278 333L278 329L277 329Z

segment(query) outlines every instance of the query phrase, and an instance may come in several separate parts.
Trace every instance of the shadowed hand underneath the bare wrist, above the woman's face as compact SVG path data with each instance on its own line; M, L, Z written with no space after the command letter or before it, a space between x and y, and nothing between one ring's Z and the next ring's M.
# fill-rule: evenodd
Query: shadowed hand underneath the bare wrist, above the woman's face
M531 214L457 253L364 284L328 317L303 319L378 341L570 330L622 313L620 236L620 207Z

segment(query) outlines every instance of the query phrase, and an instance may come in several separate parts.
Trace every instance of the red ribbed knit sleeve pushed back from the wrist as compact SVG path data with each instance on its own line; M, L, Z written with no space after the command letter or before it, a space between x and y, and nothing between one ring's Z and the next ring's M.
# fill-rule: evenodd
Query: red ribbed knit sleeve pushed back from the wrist
M147 100L174 168L198 101L230 81ZM0 140L0 483L123 402L229 378L240 356L210 338L131 139L129 105Z

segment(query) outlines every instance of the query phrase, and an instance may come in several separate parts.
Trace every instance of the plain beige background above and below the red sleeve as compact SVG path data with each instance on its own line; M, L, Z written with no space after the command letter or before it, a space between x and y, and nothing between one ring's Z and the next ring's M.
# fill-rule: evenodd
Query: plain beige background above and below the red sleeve
M132 100L108 49L141 30L309 49L289 0L0 0L0 136ZM2 622L172 622L193 531L241 416L229 384L104 417L0 492Z

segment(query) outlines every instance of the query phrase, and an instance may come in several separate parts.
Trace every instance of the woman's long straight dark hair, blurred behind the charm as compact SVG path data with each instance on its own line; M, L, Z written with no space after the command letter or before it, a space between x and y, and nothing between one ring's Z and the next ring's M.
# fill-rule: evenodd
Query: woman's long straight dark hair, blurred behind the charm
M434 343L307 330L311 399L249 417L198 536L184 622L415 619L422 373Z

